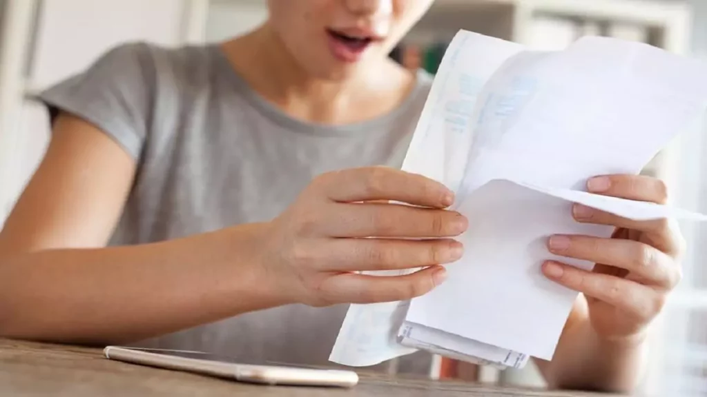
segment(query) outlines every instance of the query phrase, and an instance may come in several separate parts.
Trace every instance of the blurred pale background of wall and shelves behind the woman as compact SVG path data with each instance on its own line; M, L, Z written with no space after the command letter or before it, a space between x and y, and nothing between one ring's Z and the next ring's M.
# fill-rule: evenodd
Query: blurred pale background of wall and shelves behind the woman
M31 93L121 42L214 42L266 18L264 0L0 0L0 225L47 144L47 114L28 99ZM604 35L707 57L707 0L436 0L391 57L434 73L459 29L534 49ZM704 132L686 131L644 172L665 179L678 206L707 213ZM707 396L707 228L683 230L690 243L685 278L651 341L644 384L650 396ZM479 381L542 386L532 367L464 371Z

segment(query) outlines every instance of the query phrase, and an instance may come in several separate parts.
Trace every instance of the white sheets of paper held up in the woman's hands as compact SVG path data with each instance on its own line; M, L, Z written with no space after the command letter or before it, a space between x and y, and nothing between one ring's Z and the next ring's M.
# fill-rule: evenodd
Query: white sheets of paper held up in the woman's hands
M459 32L440 65L403 169L457 192L469 218L449 278L410 302L351 305L330 360L368 366L418 349L522 367L551 359L577 293L547 280L549 235L609 237L571 204L626 218L692 218L588 194L589 177L636 174L703 115L707 68L633 42L586 37L561 52Z

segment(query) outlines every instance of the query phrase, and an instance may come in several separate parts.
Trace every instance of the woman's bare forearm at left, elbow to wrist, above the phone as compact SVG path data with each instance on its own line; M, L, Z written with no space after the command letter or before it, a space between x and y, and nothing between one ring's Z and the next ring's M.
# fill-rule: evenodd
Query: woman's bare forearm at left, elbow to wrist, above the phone
M263 228L0 258L0 336L126 343L287 303L259 273Z

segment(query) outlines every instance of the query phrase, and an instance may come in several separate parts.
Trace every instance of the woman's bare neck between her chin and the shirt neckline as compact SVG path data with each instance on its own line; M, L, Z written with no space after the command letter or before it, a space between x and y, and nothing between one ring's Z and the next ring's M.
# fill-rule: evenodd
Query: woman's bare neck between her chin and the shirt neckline
M380 117L399 106L415 85L414 73L389 59L362 65L347 78L313 78L268 25L226 42L223 52L259 95L306 122L349 124Z

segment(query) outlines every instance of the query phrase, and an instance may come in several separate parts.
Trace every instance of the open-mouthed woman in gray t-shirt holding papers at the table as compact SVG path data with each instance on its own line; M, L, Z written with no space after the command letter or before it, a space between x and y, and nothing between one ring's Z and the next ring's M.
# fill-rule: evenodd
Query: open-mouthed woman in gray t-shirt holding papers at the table
M399 171L431 78L387 58L432 1L271 0L248 35L122 45L42 93L52 141L0 235L0 334L323 364L346 303L442 283L467 220L446 209L445 186ZM665 201L648 177L588 189ZM630 390L681 238L665 222L581 207L575 218L617 233L549 239L605 264L544 263L583 295L554 360L538 364L552 386ZM390 238L356 238L367 236Z

